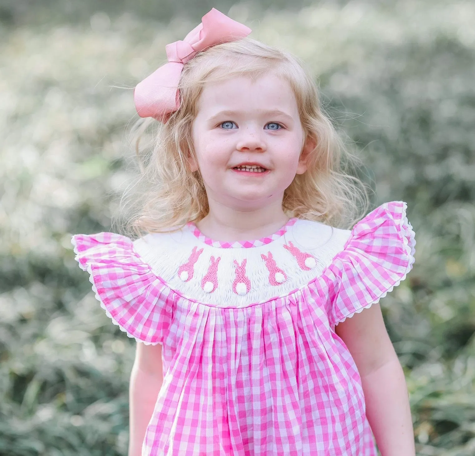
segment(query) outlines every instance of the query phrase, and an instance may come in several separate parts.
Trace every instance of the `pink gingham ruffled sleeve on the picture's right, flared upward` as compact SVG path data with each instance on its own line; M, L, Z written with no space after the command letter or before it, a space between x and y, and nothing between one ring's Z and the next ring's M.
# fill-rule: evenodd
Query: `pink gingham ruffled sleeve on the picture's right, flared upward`
M382 204L352 229L326 269L327 314L332 326L379 302L406 278L414 263L414 231L403 201Z

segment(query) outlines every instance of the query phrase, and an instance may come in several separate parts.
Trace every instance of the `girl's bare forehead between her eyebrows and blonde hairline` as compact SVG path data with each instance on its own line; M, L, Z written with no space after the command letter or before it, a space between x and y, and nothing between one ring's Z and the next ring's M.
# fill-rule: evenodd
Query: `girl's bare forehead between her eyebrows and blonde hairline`
M290 84L282 77L231 76L225 80L206 83L198 100L199 111L245 109L261 107L294 111L297 103Z

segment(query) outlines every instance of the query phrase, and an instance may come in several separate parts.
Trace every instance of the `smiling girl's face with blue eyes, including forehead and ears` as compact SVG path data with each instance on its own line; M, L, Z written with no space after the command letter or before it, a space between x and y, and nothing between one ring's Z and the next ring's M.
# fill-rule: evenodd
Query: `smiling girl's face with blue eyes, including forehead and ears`
M205 85L192 136L190 167L199 168L208 199L241 210L282 201L312 148L290 85L271 74Z

